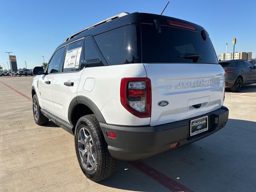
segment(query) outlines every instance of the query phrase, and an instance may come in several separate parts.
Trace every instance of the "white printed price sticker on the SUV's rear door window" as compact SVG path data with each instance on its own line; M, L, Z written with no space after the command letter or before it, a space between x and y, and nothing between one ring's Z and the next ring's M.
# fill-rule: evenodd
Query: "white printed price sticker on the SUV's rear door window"
M79 61L81 56L82 47L68 50L65 56L63 68L79 68Z

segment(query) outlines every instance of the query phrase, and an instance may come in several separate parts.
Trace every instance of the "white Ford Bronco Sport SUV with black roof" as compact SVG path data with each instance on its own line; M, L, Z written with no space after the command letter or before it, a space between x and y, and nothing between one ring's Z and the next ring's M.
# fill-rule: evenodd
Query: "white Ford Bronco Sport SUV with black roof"
M45 70L35 67L36 124L74 134L93 181L117 160L190 144L228 120L224 70L204 28L146 13L121 13L66 38Z

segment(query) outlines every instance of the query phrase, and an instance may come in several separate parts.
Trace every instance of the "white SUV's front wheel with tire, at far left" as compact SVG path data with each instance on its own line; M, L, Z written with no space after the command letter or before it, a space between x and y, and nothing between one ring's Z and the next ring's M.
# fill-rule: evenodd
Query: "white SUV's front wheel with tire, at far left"
M33 116L34 116L34 120L35 120L36 124L44 125L49 122L49 119L46 116L44 116L40 111L41 108L39 106L38 98L37 98L36 94L34 94L34 96L33 96L32 109L33 109Z

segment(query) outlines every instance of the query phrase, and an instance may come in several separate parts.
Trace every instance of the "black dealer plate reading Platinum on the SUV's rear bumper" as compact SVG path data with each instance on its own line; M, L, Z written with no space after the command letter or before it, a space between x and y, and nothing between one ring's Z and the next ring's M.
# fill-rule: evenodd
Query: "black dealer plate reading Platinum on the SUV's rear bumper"
M200 117L190 121L190 136L208 130L208 116Z

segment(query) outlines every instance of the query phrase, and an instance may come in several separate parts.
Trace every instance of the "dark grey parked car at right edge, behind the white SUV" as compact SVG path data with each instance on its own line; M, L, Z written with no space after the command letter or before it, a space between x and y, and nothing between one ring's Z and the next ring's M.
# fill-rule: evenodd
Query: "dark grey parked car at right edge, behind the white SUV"
M222 60L219 64L224 68L225 86L233 92L240 92L243 85L256 83L256 65L246 60Z

